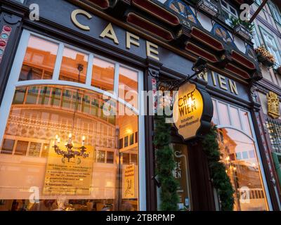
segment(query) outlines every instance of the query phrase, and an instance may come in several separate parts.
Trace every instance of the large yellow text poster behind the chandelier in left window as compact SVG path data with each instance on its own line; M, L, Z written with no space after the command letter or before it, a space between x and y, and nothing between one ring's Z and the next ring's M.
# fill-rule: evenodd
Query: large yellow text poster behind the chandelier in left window
M53 141L51 142L53 143ZM80 152L77 143L72 150ZM65 144L58 144L61 155L55 152L53 144L48 151L48 161L44 179L44 195L89 195L93 173L93 146L85 146L83 155L74 155L66 158L63 151L67 152Z

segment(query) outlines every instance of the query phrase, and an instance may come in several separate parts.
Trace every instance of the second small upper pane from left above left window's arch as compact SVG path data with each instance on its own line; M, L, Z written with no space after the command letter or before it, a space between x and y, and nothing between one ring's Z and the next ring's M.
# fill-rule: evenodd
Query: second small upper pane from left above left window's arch
M65 47L60 67L60 80L85 84L88 58L85 53Z

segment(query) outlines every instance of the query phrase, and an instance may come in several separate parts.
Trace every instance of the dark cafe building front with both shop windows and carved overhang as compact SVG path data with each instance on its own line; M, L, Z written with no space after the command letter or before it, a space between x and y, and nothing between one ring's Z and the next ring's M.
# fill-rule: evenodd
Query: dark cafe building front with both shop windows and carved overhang
M1 1L0 210L159 210L155 121L141 93L179 85L199 57L208 69L190 82L208 96L202 115L209 105L234 210L280 210L253 44L210 14L225 6L202 2L212 10L194 0ZM221 210L202 136L171 131L181 210Z

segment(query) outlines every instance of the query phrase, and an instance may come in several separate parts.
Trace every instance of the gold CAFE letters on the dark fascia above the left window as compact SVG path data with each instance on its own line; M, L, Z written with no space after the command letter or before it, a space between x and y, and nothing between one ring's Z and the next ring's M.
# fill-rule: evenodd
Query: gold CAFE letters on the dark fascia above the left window
M71 13L72 23L76 27L78 27L81 30L90 31L91 27L81 24L77 20L77 15L84 15L89 20L91 20L93 18L93 16L90 13L88 13L84 10L81 10L81 9L76 9L76 10L72 11L72 13ZM112 26L112 23L107 24L107 26L104 28L104 30L102 32L100 32L99 37L101 39L104 39L104 38L110 39L110 40L112 40L112 42L114 44L117 44L117 45L119 44L119 39ZM139 48L141 46L139 40L140 40L140 37L136 36L135 34L131 34L130 32L126 32L126 49L131 49L132 45L137 46ZM150 41L145 41L145 45L146 45L146 56L148 56L150 58L154 58L155 60L159 60L158 46L156 44L153 44Z

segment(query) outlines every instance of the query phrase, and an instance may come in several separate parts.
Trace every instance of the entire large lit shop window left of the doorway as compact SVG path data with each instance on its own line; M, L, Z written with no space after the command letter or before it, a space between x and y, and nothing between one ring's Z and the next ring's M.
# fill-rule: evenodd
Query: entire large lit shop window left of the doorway
M28 46L22 62L32 75L23 72L24 66L14 65L18 73L11 75L15 86L9 87L14 94L4 99L11 108L1 108L6 111L1 115L8 118L0 140L0 167L4 168L0 199L6 199L1 207L11 210L13 203L29 203L33 186L39 188L40 200L24 205L25 210L139 210L142 143L137 136L143 123L136 108L138 98L133 105L131 98L117 98L109 91L135 91L137 95L142 89L141 72L23 32L27 34L37 41L36 45L21 41ZM37 57L35 62L32 54L37 48L41 48L40 56L53 60ZM110 109L104 109L111 98L116 99ZM130 114L120 114L119 108ZM117 115L107 114L113 111ZM126 145L119 140L126 140Z

